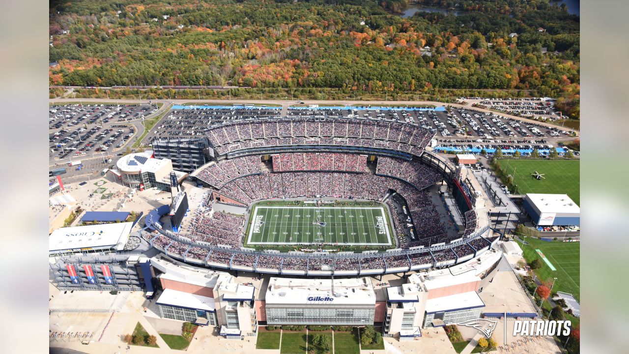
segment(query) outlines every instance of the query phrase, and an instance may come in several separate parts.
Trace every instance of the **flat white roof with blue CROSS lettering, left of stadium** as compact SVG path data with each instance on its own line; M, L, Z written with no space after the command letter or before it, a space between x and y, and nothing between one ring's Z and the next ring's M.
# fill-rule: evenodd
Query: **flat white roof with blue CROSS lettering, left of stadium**
M133 222L62 227L48 237L48 251L87 251L89 249L121 250L129 238Z

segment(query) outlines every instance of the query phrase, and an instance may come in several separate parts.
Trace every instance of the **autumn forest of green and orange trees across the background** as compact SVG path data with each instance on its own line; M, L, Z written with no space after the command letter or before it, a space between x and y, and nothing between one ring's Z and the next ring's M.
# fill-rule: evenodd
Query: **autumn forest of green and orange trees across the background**
M52 1L49 82L520 89L578 117L578 16L548 0L420 3L464 12L401 18L406 0Z

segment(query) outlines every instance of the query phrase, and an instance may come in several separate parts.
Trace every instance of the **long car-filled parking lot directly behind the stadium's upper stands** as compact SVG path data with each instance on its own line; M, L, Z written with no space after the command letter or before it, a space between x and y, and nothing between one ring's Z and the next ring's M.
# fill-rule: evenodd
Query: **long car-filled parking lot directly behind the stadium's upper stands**
M173 106L147 134L143 144L167 137L203 137L208 125L235 119L280 117L388 120L431 128L443 146L511 146L516 149L548 149L549 144L567 140L571 131L525 122L474 108L379 107L379 106L291 106L280 110L264 106ZM440 142L441 143L441 142ZM481 147L482 148L482 147ZM504 149L504 148L503 148Z

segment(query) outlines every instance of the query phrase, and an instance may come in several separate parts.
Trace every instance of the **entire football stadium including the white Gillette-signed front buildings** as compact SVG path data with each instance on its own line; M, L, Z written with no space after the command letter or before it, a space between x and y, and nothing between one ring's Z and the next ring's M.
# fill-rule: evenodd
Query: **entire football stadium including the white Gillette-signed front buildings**
M204 157L186 159L208 162L183 184L171 176L172 203L142 221L146 251L64 254L50 266L58 287L144 288L160 317L240 340L276 324L375 324L413 340L484 316L479 293L509 269L496 245L520 215L499 184L435 154L425 124L269 109L206 127ZM413 109L430 111L390 111Z

